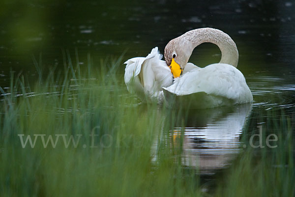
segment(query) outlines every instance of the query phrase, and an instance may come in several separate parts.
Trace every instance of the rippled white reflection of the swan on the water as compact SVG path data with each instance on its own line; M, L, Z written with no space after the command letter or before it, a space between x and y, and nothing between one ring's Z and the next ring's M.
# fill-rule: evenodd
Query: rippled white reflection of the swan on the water
M182 165L196 167L201 174L212 174L228 166L239 153L239 138L251 107L252 104L247 103L231 107L190 110L186 127L174 128L168 139L174 146L182 144ZM155 142L156 149L160 148L160 141L167 142L167 138L160 138ZM156 160L157 156L153 158L153 161Z

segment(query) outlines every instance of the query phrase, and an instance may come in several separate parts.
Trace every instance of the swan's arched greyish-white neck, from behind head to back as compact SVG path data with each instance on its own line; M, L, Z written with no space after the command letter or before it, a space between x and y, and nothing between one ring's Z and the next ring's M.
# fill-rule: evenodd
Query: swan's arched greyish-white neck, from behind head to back
M221 51L219 63L237 66L238 51L236 43L228 34L217 29L201 28L184 33L182 36L191 43L191 52L198 45L204 42L211 42L216 44Z

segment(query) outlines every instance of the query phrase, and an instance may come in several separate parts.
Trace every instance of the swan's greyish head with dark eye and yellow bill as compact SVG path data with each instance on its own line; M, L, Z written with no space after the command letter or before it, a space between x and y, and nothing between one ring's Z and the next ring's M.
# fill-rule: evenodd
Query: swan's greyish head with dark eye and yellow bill
M164 57L166 64L170 67L174 78L179 77L188 59L191 51L186 42L181 42L180 37L171 40L165 47ZM190 44L189 44L190 45Z

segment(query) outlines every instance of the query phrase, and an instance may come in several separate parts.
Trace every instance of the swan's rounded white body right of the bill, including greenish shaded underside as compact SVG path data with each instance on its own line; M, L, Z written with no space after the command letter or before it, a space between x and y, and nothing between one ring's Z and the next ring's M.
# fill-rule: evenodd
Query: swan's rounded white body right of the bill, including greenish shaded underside
M232 105L253 100L243 74L227 64L212 64L190 70L175 79L172 86L164 89L166 99L181 99L179 102L191 103L194 108Z

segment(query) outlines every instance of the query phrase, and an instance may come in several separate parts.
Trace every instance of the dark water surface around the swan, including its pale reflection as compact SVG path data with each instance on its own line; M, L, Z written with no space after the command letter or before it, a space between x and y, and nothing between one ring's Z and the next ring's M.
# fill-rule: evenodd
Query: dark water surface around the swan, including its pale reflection
M184 130L183 165L198 166L202 173L212 174L235 159L245 144L240 136L247 120L250 130L258 130L266 117L280 119L283 110L295 124L294 1L4 0L0 7L0 86L6 89L10 69L36 78L32 56L38 59L40 53L44 66L62 68L62 50L73 58L77 50L81 66L87 65L90 54L95 66L123 52L124 60L147 56L155 46L163 53L169 40L192 29L212 27L228 33L239 50L237 68L255 102L192 111L185 127L171 131L175 139ZM215 45L205 43L189 62L207 66L220 57Z

